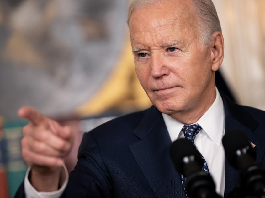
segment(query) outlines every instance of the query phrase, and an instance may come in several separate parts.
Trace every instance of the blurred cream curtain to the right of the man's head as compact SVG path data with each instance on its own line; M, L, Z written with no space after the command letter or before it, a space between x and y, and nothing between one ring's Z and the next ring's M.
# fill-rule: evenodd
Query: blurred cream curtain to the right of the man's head
M225 39L220 72L240 104L265 110L265 1L213 2Z

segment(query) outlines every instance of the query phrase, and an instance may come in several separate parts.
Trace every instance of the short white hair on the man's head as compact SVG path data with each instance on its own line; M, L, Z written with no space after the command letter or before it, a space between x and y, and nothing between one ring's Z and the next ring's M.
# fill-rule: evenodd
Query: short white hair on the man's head
M128 11L127 23L136 9L146 8L167 0L133 0ZM196 24L202 42L208 46L212 42L215 32L222 32L215 6L211 0L193 0L194 11L197 14Z

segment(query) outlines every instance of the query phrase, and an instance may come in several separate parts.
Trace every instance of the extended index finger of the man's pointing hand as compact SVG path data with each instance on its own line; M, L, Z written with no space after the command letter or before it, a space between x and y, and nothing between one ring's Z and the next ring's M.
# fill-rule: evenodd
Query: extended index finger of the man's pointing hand
M21 118L28 119L33 125L40 125L47 119L46 116L41 114L39 111L33 107L23 106L18 110L18 115Z

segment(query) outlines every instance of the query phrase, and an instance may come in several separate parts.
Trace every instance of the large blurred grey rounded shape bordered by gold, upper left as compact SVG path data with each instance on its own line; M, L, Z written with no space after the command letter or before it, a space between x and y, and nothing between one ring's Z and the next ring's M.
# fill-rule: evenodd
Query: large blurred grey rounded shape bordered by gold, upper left
M16 116L22 105L71 114L114 71L127 1L0 2L0 115Z

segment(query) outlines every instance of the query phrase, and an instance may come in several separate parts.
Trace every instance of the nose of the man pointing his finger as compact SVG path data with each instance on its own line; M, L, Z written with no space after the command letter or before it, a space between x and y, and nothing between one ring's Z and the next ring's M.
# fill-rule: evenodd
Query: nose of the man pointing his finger
M169 74L169 69L166 64L166 58L161 54L151 55L151 76L154 78L160 78Z

